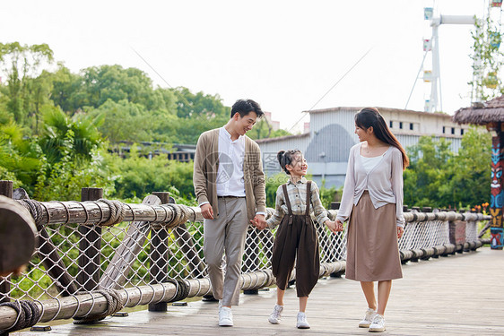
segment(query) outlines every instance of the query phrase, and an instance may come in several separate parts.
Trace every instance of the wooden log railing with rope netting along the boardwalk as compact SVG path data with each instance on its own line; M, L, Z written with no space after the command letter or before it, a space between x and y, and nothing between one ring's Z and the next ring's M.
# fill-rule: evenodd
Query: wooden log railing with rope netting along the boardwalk
M124 306L149 305L151 311L166 311L167 303L185 297L212 298L198 207L175 204L168 193L153 193L140 204L110 201L97 188L84 188L81 202L37 202L22 191L14 193L12 183L5 181L0 181L0 193L15 199L16 211L21 208L36 227L37 239L22 275L0 278L0 296L11 301L0 306L0 330L67 318L85 323ZM267 216L273 211L268 208ZM334 219L337 211L328 212ZM399 240L403 263L474 250L482 246L478 221L490 220L482 214L453 211L413 211L404 213L404 218L404 236ZM341 276L344 232L335 235L319 225L317 230L319 275ZM274 284L269 262L274 232L248 230L241 289L249 294ZM22 309L28 313L20 314ZM27 316L30 323L20 324L29 320Z

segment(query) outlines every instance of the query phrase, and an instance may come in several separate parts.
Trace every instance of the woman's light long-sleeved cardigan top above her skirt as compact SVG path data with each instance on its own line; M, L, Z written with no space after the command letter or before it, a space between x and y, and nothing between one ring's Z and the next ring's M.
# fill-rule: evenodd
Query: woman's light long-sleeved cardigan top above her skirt
M361 142L352 146L338 220L348 220L352 205L357 205L364 191L368 190L375 209L387 203L395 203L397 226L404 226L403 154L390 146L379 158L378 163L367 171L364 164L366 158L361 156Z

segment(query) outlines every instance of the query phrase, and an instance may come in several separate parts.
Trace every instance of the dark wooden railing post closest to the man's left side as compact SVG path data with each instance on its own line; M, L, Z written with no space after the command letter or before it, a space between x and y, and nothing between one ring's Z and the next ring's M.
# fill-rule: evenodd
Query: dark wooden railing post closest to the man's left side
M173 198L169 197L169 193L154 192L154 196L158 196L161 204L174 203ZM149 273L151 284L162 283L168 280L168 229L155 228L151 229L151 270ZM166 312L168 304L159 302L157 304L149 304L150 312Z

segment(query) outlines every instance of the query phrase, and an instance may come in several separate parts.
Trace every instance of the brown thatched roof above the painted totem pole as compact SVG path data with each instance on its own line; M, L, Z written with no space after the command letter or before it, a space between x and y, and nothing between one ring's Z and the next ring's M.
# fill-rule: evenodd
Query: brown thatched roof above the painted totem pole
M504 96L491 99L471 108L459 108L453 116L458 124L486 125L504 121Z

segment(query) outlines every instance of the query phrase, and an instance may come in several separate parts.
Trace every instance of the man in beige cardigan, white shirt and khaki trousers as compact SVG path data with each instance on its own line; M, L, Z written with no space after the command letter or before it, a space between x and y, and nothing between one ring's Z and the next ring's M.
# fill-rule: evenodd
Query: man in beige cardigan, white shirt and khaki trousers
M254 100L239 99L231 108L230 121L201 134L196 145L193 183L204 217L204 258L213 297L220 300L221 326L233 325L231 306L239 304L248 225L266 227L261 151L245 135L263 115ZM222 254L226 257L225 278Z

